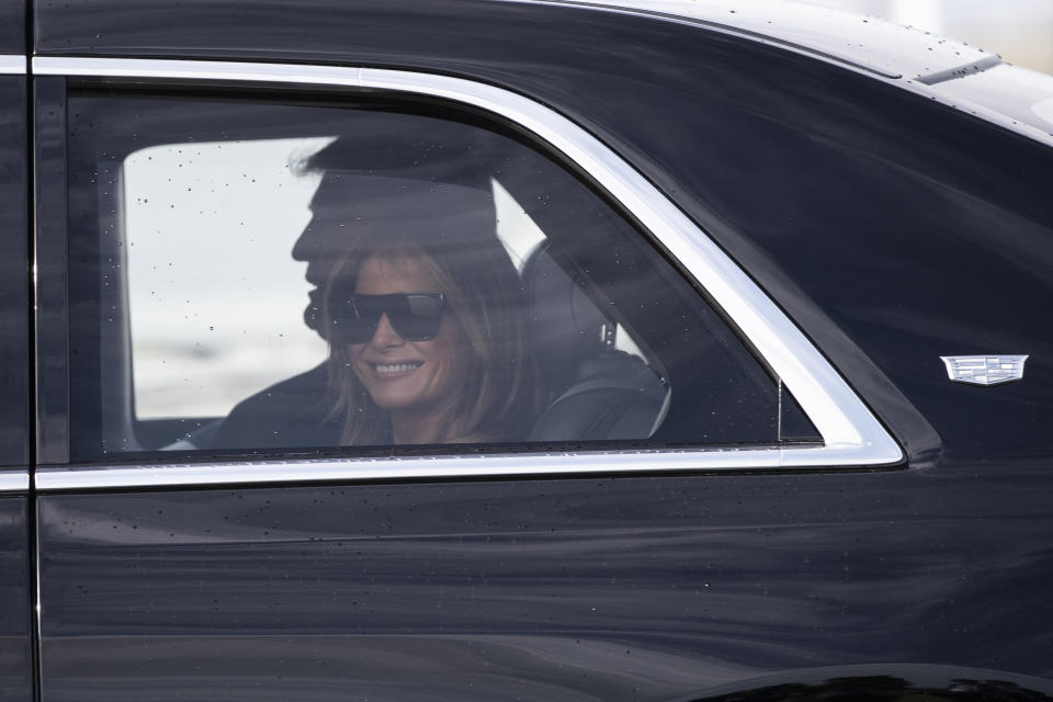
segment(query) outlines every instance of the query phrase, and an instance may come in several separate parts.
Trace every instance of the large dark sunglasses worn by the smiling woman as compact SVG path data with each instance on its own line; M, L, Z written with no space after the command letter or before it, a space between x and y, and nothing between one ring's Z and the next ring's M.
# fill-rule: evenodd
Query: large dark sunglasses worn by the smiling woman
M393 295L333 295L329 301L332 327L329 341L365 343L376 333L381 316L406 341L429 341L439 333L446 296L442 293Z

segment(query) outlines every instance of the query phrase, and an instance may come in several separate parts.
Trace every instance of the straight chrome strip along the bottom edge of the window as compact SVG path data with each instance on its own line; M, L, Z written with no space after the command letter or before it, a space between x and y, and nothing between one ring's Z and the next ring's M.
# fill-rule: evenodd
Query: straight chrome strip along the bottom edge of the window
M827 446L790 446L70 466L38 469L36 488L57 491L406 478L823 468L843 466L857 457L846 453Z

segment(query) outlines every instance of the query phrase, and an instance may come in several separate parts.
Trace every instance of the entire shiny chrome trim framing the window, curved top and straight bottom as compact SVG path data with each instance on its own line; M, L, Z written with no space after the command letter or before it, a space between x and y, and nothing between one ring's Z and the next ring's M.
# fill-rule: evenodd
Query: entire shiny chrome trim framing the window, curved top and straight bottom
M695 449L440 456L427 460L348 458L207 466L95 466L90 469L80 466L42 471L37 479L41 489L644 469L847 467L888 465L903 460L898 444L838 372L707 235L646 178L596 137L529 98L450 76L341 66L36 57L33 59L33 71L42 76L225 80L398 91L469 104L510 120L576 162L633 213L735 321L793 393L824 440L822 446L736 451ZM385 467L378 468L381 464Z

